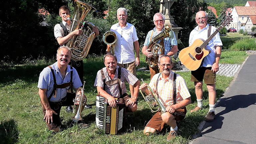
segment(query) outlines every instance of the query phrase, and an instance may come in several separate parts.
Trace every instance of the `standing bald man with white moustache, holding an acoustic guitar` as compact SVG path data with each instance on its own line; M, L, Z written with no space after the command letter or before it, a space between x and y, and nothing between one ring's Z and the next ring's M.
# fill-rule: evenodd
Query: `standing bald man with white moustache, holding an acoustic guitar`
M198 24L194 30L191 31L189 35L189 46L197 39L206 40L210 34L216 31L214 26L209 26L207 23L208 17L205 11L199 11L196 13L196 23ZM206 48L210 53L204 58L202 65L191 71L191 81L195 85L195 93L197 98L197 106L190 112L198 111L203 106L203 80L206 84L209 93L209 113L205 117L205 121L211 122L215 118L215 100L216 100L216 72L219 70L219 60L221 55L222 42L220 39L220 34L217 33L209 43Z

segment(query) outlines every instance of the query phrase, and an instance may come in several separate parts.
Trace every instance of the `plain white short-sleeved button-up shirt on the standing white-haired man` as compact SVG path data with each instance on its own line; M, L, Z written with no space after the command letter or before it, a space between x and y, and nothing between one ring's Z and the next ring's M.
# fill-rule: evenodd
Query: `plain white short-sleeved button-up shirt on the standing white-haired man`
M117 36L114 46L117 63L127 64L135 61L133 42L137 41L138 37L134 25L126 23L126 26L121 28L117 23L111 26L110 31Z

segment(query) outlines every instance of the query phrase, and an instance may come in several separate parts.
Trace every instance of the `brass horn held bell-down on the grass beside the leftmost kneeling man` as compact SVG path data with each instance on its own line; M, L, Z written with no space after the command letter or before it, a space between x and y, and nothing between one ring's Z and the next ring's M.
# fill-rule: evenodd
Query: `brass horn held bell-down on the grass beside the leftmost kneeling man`
M84 85L85 85L85 81L84 81ZM77 95L77 92L81 90L81 95ZM84 106L86 104L86 97L83 98L83 95L84 95L84 86L83 88L78 88L77 91L76 91L76 97L75 99L73 100L74 102L74 110L73 110L73 113L76 114L74 117L72 117L73 121L74 122L78 122L79 120L83 120L82 117L81 117L81 113L84 109ZM76 102L79 101L79 104L78 104L78 109L77 111L75 111L75 104Z

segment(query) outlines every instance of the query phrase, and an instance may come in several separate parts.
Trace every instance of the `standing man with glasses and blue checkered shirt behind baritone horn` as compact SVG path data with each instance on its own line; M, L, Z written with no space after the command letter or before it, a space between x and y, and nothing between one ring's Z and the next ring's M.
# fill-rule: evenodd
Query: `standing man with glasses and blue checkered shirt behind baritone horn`
M165 17L162 13L156 13L154 15L153 21L156 27L153 30L148 32L144 46L142 48L142 53L148 58L152 57L152 52L150 51L150 49L148 49L148 44L156 35L158 35L160 32L162 32L162 30L164 30ZM159 40L158 42L156 42L164 47L164 54L167 54L169 56L172 56L176 52L178 52L176 37L174 33L173 35L174 35L173 39L170 39L169 37L167 37L167 38L164 38L163 40ZM158 51L158 54L160 55L160 51ZM158 67L155 67L155 68L149 67L149 70L150 70L150 76L151 76L150 79L152 79L152 77L155 74L159 73Z

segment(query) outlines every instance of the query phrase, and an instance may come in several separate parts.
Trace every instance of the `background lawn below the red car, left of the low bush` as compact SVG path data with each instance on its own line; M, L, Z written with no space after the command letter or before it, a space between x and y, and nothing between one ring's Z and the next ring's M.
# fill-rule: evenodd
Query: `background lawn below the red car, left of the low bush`
M220 39L222 41L222 49L229 49L231 45L241 38L247 38L248 36L244 36L243 34L237 33L227 33L226 36L221 36Z

